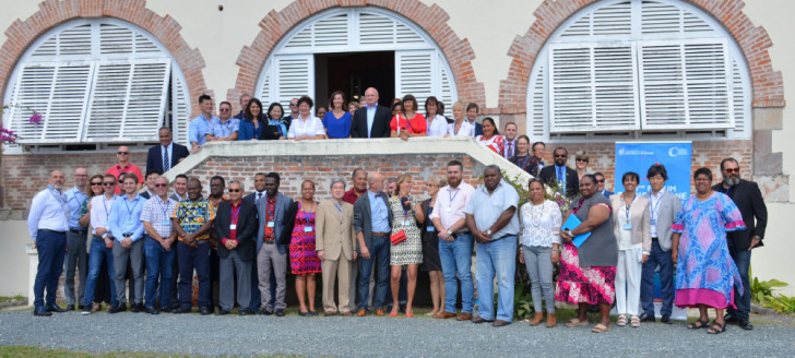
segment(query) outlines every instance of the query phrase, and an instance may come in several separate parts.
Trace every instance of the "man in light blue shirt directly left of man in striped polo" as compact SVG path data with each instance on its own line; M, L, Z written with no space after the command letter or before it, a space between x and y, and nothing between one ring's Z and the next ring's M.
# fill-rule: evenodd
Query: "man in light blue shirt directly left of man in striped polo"
M132 303L131 309L133 312L143 312L143 223L141 223L141 212L146 201L135 190L138 177L134 174L126 174L122 177L121 187L124 195L114 202L108 218L108 226L115 239L114 273L116 274L116 295L119 306L108 312L118 313L127 310L124 277L127 276L128 260L132 264L135 293L135 302Z

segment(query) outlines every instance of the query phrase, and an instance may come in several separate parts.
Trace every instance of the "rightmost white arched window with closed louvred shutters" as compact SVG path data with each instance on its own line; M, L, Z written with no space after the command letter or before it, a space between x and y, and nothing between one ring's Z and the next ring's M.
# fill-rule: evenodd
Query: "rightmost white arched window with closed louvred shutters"
M550 140L748 139L750 80L734 38L678 0L598 1L539 51L527 129Z

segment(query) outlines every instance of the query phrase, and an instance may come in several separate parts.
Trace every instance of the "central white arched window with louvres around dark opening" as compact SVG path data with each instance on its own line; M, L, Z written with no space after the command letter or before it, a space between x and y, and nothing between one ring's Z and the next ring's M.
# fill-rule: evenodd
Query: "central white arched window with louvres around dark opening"
M256 96L287 108L290 98L315 97L316 55L373 51L394 51L396 96L413 94L420 108L428 96L448 105L458 99L450 64L430 36L399 14L373 8L332 9L296 26L265 61ZM351 87L367 85L351 81Z

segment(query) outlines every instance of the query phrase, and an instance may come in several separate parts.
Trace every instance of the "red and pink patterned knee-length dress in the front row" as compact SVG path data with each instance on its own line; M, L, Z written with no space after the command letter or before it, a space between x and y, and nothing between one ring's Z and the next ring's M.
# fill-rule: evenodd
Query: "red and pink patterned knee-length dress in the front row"
M318 251L315 251L315 214L302 211L298 202L295 227L289 239L289 267L294 275L321 272Z

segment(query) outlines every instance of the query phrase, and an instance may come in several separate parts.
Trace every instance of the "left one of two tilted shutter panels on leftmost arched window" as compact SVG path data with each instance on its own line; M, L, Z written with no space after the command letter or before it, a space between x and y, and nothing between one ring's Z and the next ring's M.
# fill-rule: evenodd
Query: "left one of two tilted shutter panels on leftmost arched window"
M11 128L19 143L78 142L85 116L94 65L90 62L31 63L14 85ZM36 110L40 124L28 122Z

